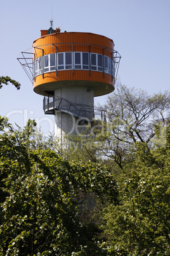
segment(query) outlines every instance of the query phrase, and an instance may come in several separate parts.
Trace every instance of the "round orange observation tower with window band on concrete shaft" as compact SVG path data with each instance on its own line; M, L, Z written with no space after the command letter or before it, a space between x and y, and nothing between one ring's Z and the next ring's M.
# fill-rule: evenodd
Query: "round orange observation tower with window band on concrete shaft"
M55 136L79 134L81 125L95 118L94 97L114 90L121 59L114 41L90 32L60 32L51 21L32 49L18 60L34 92L44 96L44 113L55 115Z

